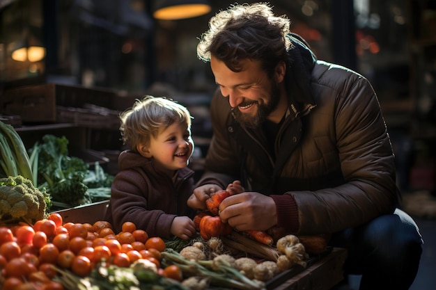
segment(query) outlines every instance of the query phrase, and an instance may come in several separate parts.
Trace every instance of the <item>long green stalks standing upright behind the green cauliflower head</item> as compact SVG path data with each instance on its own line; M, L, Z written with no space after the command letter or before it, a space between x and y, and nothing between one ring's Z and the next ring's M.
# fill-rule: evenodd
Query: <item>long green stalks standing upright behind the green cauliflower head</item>
M22 175L33 180L29 155L17 131L0 121L0 177Z

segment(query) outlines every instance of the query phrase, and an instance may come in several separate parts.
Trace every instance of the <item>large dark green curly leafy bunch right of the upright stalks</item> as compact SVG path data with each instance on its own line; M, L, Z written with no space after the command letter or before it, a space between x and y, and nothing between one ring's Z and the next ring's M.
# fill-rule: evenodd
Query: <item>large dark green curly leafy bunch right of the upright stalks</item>
M62 202L75 207L91 203L86 193L88 186L84 177L88 165L84 160L68 156L68 139L65 136L42 136L30 150L30 160L35 172L38 188L47 188L54 202Z

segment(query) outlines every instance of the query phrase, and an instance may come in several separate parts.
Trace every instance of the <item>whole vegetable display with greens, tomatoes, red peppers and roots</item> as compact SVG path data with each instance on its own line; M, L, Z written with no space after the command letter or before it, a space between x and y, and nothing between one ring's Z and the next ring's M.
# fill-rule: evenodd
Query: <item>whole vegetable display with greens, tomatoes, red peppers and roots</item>
M244 191L238 181L211 194L208 210L194 217L198 235L192 240L164 241L131 222L121 232L103 220L64 223L49 211L56 192L77 202L88 185L106 186L110 179L98 166L91 171L68 156L65 138L44 136L29 157L12 127L0 128L3 290L265 289L327 248L327 236L295 236L279 228L239 232L222 223L219 204Z

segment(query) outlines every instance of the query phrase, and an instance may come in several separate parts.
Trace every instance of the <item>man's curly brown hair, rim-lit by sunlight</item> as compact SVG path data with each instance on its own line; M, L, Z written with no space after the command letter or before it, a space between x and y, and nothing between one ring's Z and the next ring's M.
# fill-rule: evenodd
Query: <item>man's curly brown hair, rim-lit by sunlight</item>
M208 62L213 55L234 72L240 72L240 61L249 58L272 72L277 63L286 61L286 52L292 48L286 38L289 27L290 19L274 16L268 3L235 4L210 19L197 45L197 56Z

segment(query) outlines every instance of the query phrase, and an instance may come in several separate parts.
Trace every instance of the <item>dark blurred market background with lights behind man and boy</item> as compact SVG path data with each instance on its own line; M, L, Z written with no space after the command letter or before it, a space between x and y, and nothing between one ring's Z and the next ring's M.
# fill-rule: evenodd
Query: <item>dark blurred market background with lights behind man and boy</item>
M169 7L192 3L199 6ZM171 97L194 116L192 167L200 174L212 134L208 106L215 80L208 63L196 57L196 45L208 19L232 3L0 0L0 117L27 146L42 134L63 134L79 150L104 155L106 169L116 173L123 149L118 113L146 94ZM391 134L405 207L423 223L435 218L436 0L270 4L292 20L291 29L319 59L371 81ZM434 232L433 223L423 227ZM426 255L430 264L423 271L430 271L434 252ZM430 289L423 285L432 277L419 277L424 282L416 289Z

